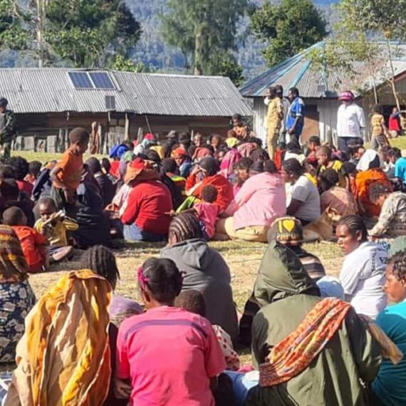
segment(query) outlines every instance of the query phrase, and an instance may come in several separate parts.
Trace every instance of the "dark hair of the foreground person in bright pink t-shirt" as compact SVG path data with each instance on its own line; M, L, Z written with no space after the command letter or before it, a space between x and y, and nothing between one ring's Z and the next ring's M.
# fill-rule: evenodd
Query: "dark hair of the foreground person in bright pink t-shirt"
M174 301L182 290L182 274L172 259L147 259L142 264L142 273L152 297L160 303Z

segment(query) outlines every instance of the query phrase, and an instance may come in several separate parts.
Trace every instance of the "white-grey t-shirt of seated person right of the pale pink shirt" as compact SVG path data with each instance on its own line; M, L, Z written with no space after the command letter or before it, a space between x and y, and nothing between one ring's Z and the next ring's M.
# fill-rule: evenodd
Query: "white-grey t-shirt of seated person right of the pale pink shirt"
M291 199L303 202L295 213L295 217L298 219L314 222L320 217L320 194L318 194L317 187L305 175L301 175L293 184Z

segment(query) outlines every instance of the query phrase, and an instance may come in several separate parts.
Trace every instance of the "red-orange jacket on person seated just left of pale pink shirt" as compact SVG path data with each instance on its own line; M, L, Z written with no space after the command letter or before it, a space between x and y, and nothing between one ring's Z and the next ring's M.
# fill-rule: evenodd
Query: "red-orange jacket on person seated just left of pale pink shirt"
M189 191L189 189L192 189L192 187L194 187L196 184L197 184L196 175L190 175L186 181L186 190ZM196 189L194 189L192 195L200 199L202 188L207 184L212 184L214 187L216 187L217 192L219 192L219 194L214 204L217 204L217 206L220 207L220 210L224 212L224 210L227 209L227 207L231 203L231 200L234 199L234 192L231 183L222 175L217 174L213 176L208 176L205 177L202 180L202 182L200 182L199 186L197 186Z

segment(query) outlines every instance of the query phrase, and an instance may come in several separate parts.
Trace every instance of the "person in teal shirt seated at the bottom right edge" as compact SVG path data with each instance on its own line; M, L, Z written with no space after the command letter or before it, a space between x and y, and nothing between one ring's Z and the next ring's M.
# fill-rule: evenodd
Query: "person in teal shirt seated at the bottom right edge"
M385 271L383 290L392 306L382 311L376 323L392 340L397 348L406 354L406 251L392 256ZM393 365L390 360L382 360L378 376L372 389L378 397L377 405L406 405L406 357Z

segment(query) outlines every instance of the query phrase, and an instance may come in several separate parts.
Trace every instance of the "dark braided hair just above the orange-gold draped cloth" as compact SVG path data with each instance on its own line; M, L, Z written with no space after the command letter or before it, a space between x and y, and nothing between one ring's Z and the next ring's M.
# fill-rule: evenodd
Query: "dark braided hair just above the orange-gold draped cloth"
M80 268L90 269L95 274L103 276L113 288L120 279L113 251L103 245L95 245L87 249L80 259Z

